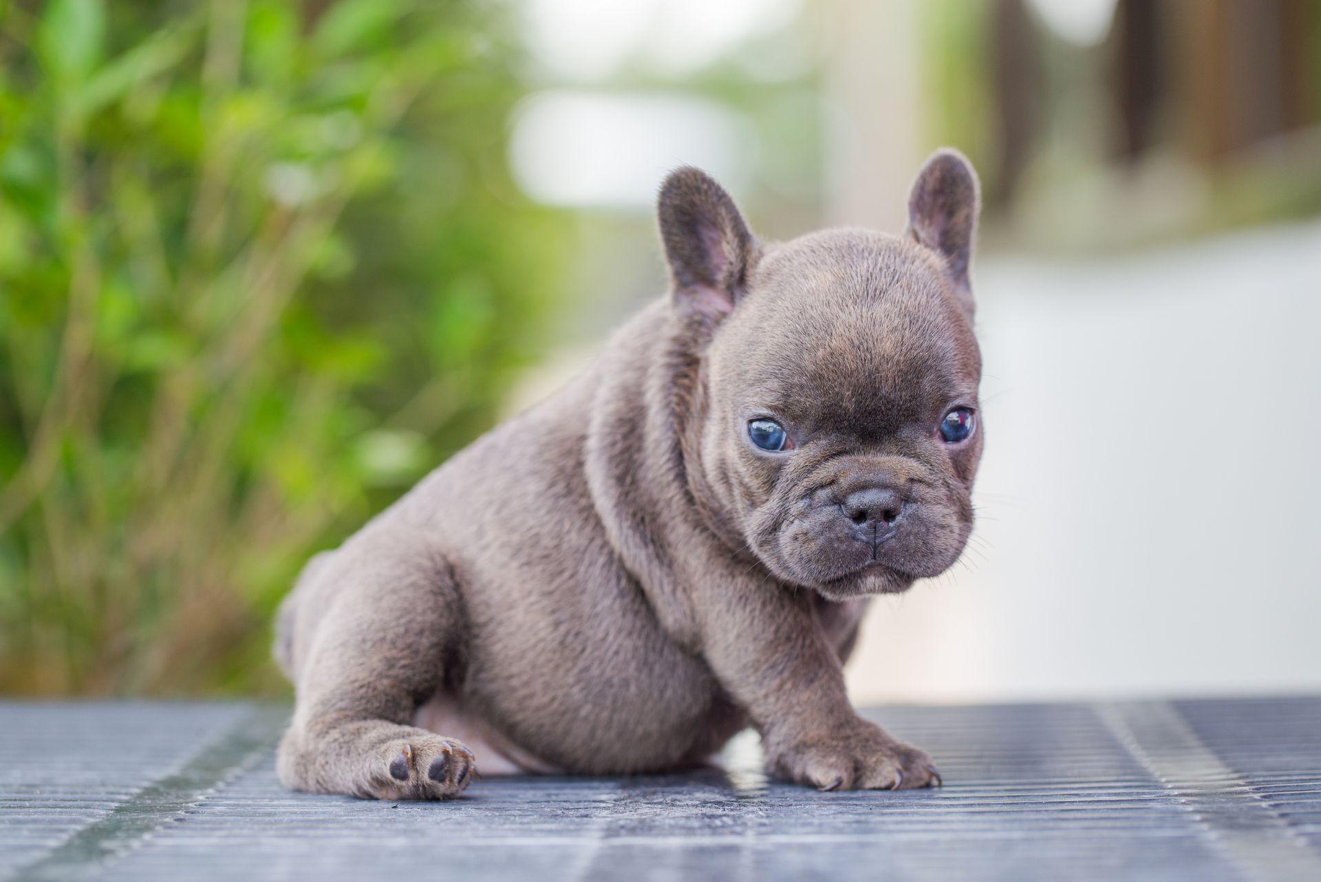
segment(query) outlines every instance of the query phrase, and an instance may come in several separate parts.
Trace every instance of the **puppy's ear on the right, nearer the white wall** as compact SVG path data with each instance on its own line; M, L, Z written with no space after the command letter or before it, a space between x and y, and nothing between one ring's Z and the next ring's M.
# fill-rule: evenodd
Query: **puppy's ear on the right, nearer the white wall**
M945 257L954 290L970 316L968 264L980 205L978 173L963 153L950 148L931 154L909 194L909 235Z

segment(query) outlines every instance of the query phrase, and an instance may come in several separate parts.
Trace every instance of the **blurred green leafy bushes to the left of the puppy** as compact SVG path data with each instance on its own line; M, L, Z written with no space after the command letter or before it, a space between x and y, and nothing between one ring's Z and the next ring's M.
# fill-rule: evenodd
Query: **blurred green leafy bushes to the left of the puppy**
M0 692L279 688L303 561L490 423L563 251L499 15L0 3Z

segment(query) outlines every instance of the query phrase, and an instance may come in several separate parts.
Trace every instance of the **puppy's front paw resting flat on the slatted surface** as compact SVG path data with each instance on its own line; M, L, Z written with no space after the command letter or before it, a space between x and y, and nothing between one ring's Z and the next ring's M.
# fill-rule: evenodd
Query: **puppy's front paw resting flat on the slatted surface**
M771 770L818 790L913 790L941 784L931 758L865 721L771 755Z

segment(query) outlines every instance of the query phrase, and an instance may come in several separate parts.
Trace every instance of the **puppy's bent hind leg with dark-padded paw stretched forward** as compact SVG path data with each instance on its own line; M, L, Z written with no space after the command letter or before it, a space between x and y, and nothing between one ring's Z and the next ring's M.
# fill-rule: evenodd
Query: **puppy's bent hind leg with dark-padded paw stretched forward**
M474 770L453 738L407 725L436 692L461 639L450 568L428 536L369 529L317 573L332 590L300 647L293 722L280 743L280 780L295 790L369 799L456 796ZM301 652L300 652L301 655Z

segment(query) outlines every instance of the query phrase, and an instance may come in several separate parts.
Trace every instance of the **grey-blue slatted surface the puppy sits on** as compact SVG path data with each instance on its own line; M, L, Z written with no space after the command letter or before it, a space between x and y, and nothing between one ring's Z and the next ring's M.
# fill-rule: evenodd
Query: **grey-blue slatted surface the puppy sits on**
M0 702L0 879L1321 879L1321 697L885 708L934 791L721 768L293 794L287 708Z

